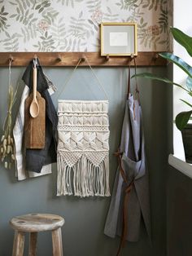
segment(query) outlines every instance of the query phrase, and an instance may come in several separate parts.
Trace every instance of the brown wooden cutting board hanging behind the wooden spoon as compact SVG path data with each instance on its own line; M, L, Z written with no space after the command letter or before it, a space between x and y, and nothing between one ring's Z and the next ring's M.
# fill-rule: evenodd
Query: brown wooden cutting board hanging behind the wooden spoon
M39 104L38 116L33 118L29 113L30 104L33 100L31 93L24 102L24 141L25 148L41 149L46 144L46 100L37 91Z

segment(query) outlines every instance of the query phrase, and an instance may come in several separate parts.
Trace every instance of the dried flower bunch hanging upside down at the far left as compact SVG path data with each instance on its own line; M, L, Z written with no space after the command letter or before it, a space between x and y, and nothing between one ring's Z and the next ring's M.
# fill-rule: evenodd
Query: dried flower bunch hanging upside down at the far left
M15 143L12 137L12 108L15 104L17 89L9 86L7 117L4 121L3 135L0 143L0 158L5 168L11 169L15 161Z

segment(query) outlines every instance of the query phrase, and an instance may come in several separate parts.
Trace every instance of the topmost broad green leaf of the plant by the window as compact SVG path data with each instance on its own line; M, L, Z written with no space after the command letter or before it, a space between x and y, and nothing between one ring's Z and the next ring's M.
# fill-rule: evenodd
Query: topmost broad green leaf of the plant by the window
M173 38L181 44L181 46L185 47L186 51L192 57L192 38L176 28L171 28L171 32Z

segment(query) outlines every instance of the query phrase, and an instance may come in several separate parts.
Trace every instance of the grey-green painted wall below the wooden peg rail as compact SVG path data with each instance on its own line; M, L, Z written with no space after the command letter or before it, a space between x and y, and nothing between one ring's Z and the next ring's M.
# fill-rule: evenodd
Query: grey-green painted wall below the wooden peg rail
M120 143L120 130L124 116L127 69L95 68L99 80L107 91L110 102L110 183L116 174L116 158L113 152ZM146 68L138 68L138 72ZM166 68L147 68L166 76ZM46 74L60 91L71 68L45 68ZM12 81L20 82L24 68L12 69ZM142 232L137 243L127 243L123 256L166 255L166 175L170 148L172 90L171 86L138 80L146 135L146 157L150 170L151 223L153 247ZM1 127L7 111L8 68L0 68L0 120ZM23 84L20 82L20 92ZM79 68L68 83L60 99L105 99L103 91L87 68ZM57 95L53 96L55 107ZM14 112L18 111L18 96ZM56 166L53 174L18 182L14 170L0 168L0 255L11 255L14 232L9 220L20 214L52 213L65 218L63 248L66 256L116 255L119 238L111 239L103 234L110 198L79 199L73 196L57 197ZM42 233L38 240L38 255L51 255L50 233ZM25 252L27 255L27 252Z

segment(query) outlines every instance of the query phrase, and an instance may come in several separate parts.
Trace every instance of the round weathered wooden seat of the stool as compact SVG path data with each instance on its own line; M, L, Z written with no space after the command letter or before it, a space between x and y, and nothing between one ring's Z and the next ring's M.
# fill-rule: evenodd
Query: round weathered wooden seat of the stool
M55 214L26 214L11 218L10 224L19 232L44 232L62 227L64 218Z

